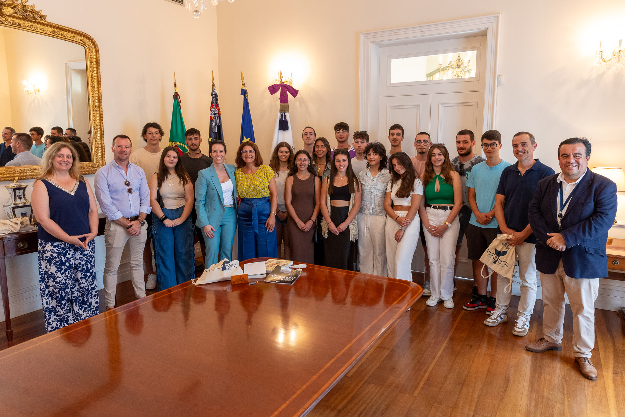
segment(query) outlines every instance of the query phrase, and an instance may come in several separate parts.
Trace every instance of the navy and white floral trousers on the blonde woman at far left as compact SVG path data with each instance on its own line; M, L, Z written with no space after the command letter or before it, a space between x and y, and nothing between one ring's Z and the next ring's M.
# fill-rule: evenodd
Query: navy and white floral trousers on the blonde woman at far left
M87 249L66 242L39 239L39 288L51 332L99 313L92 240Z

